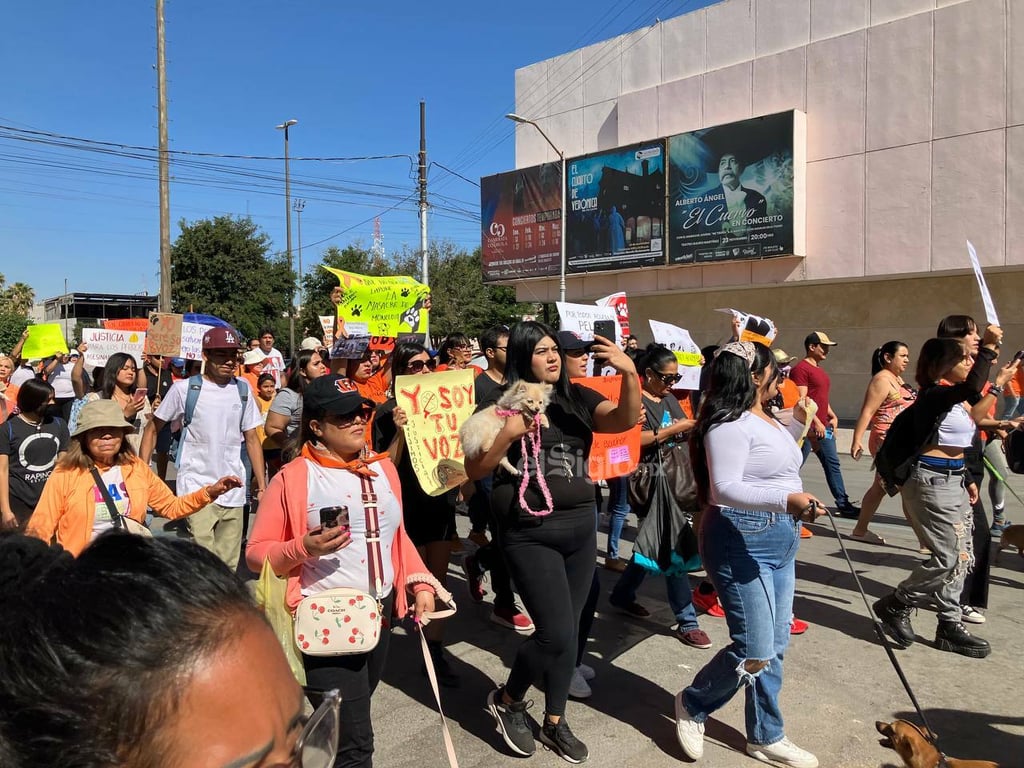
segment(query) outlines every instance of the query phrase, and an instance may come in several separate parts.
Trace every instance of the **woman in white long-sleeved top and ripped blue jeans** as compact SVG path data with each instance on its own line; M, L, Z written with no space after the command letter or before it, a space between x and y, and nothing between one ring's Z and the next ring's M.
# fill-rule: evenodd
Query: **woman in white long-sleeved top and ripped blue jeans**
M732 642L676 695L676 735L688 757L700 758L708 717L742 688L748 754L815 768L817 758L785 737L778 695L800 517L823 505L803 490L794 435L761 406L778 381L775 358L762 344L731 342L711 365L690 456L705 510L700 554Z

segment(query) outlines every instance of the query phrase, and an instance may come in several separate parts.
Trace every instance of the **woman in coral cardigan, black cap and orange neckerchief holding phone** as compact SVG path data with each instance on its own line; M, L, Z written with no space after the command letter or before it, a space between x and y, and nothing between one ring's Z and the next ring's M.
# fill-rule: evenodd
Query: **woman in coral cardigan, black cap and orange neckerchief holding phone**
M377 601L384 621L371 650L302 656L314 706L327 691L341 691L336 768L372 764L370 699L384 670L392 617L412 613L421 620L434 609L437 592L406 534L394 464L387 454L367 449L374 404L359 394L355 382L334 374L306 385L299 456L270 480L246 549L250 568L258 572L269 560L279 577L288 578L292 611L304 598L337 588L368 592ZM365 504L368 493L376 496L376 514ZM369 536L374 524L376 545ZM380 570L371 565L377 562L372 553L380 557Z

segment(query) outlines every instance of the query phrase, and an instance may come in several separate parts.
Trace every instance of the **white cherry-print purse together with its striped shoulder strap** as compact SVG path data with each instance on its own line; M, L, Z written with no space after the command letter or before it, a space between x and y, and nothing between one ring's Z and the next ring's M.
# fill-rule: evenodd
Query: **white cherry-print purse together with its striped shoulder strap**
M310 595L300 602L295 609L295 644L307 656L369 653L380 642L384 561L377 494L369 477L359 479L367 515L367 565L375 595L340 587Z

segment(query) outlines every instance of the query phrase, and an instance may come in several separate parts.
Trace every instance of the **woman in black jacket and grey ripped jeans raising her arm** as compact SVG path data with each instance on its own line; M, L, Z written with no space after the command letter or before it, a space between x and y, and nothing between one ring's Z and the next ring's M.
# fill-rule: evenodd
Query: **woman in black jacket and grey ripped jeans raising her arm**
M968 632L963 623L961 592L975 560L971 506L978 501L978 486L965 465L964 452L977 429L970 403L981 398L1001 337L1000 329L989 326L977 357L958 339L929 339L918 358L921 392L907 413L913 415L915 435L927 442L902 494L932 555L874 603L883 630L901 648L916 639L910 611L928 606L938 612L936 648L973 658L991 652L988 642ZM1002 367L996 385L1005 384L1016 371L1016 361Z

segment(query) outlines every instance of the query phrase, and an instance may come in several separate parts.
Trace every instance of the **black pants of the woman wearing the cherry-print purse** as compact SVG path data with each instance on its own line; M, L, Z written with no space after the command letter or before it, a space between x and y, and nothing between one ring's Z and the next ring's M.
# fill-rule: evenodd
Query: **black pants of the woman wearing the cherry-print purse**
M394 593L384 600L381 615L394 610ZM419 642L419 638L416 639ZM369 653L347 656L303 656L306 668L306 694L312 706L318 707L323 693L338 688L341 691L341 734L334 768L370 768L374 759L374 726L370 722L370 697L377 689L384 672L387 649L391 642L391 620L382 628L380 642Z

